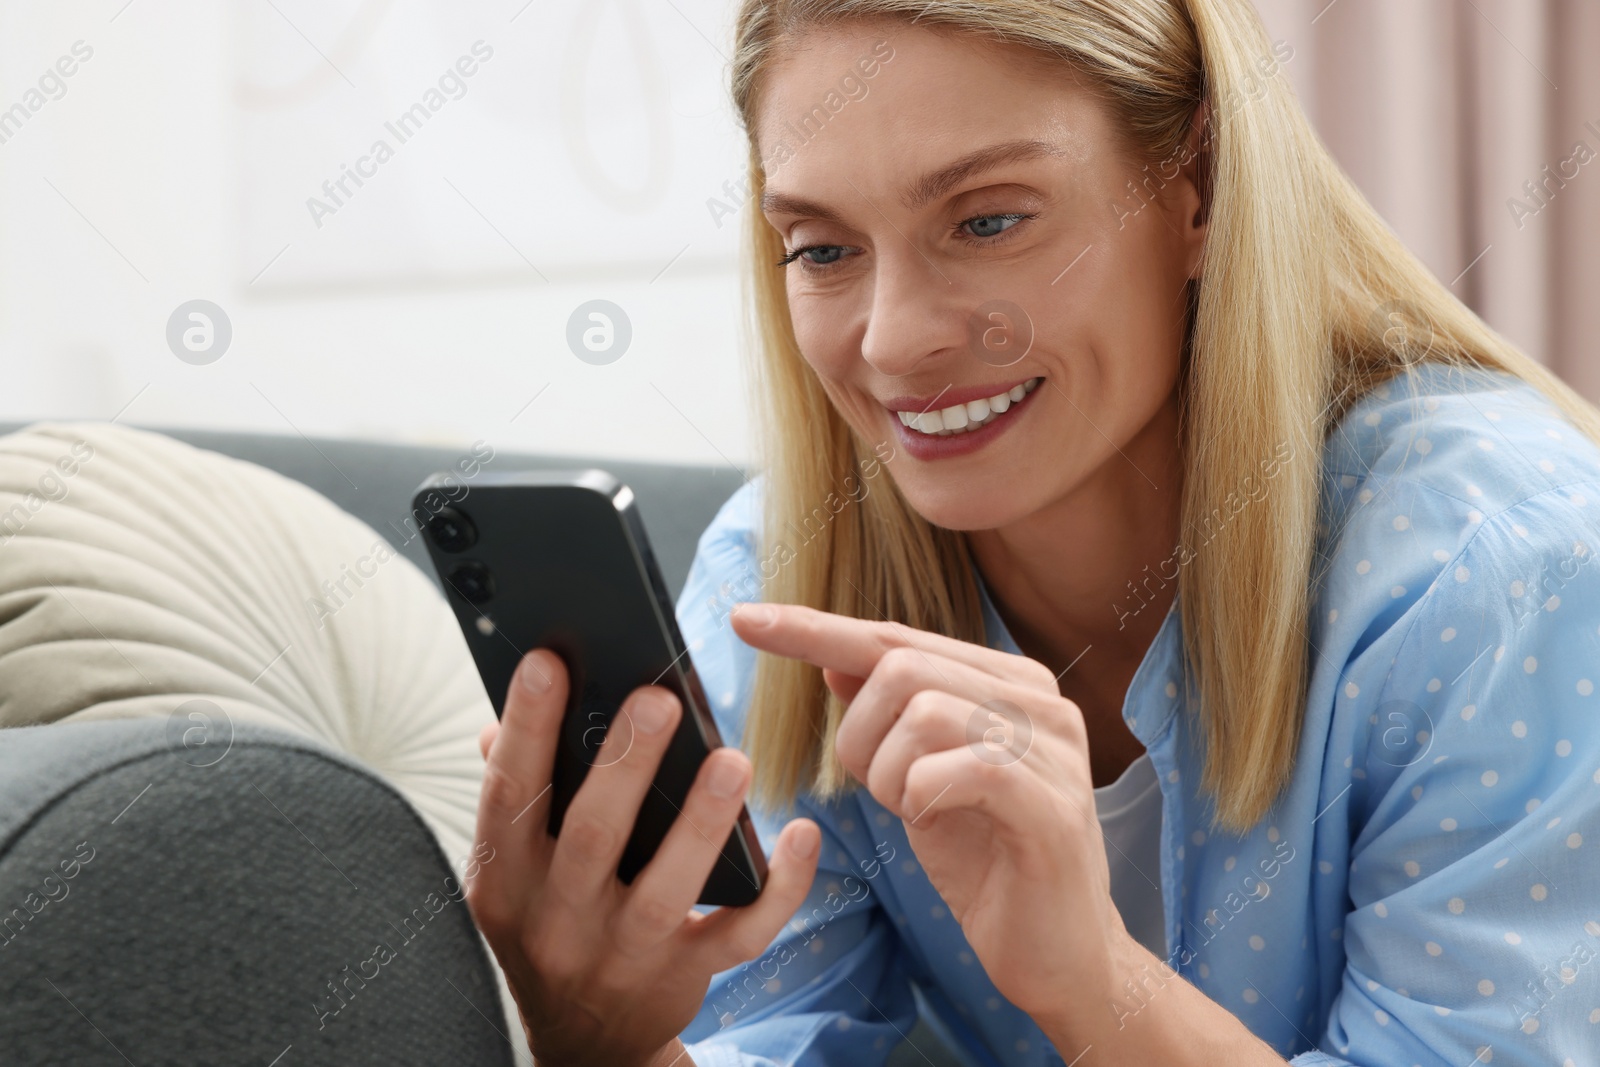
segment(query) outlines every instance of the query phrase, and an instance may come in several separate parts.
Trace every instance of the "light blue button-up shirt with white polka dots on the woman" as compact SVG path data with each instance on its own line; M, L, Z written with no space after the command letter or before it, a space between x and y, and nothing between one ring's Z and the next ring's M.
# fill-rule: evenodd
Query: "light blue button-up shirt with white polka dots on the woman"
M1128 688L1162 789L1166 960L1296 1067L1597 1064L1600 450L1531 386L1432 365L1363 397L1322 466L1310 693L1256 829L1205 829L1176 601ZM706 530L677 603L734 745L755 651L726 614L771 568L760 485ZM1251 485L1238 509L1270 493ZM822 827L811 896L712 979L683 1032L696 1064L882 1064L918 1009L971 1064L1078 1056L1000 997L870 793L795 814ZM782 821L752 816L770 854ZM1163 981L1130 974L1106 1011L1160 1009Z

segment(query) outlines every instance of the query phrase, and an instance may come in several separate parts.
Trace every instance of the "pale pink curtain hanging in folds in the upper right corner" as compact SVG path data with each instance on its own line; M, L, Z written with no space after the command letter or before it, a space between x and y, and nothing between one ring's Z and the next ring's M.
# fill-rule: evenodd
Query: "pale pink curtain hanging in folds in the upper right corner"
M1395 234L1600 402L1600 0L1256 0Z

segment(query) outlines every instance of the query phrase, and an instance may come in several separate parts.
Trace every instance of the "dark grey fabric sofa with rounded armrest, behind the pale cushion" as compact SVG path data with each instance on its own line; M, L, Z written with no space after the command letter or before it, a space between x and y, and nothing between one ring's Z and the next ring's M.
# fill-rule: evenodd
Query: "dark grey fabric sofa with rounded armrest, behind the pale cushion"
M403 520L416 485L458 451L162 432L312 486L432 574ZM490 462L584 466L632 486L677 597L742 472L507 453ZM512 1062L453 872L392 787L285 733L235 726L227 760L206 763L168 729L0 731L0 1062ZM955 1062L922 1025L891 1059Z

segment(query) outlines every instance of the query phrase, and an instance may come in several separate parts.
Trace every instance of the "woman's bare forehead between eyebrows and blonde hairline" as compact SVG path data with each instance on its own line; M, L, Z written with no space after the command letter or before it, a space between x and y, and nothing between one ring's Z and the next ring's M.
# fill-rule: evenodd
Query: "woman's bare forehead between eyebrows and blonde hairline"
M1040 50L947 27L846 21L789 34L763 70L752 134L768 179L816 166L957 158L1042 139L1066 154L1109 136L1086 78Z

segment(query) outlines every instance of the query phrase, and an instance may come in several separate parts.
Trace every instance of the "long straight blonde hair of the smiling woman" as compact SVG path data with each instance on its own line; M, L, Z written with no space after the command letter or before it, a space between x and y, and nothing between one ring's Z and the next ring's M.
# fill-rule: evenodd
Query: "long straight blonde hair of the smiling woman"
M750 142L752 203L765 187L760 75L786 38L843 19L962 30L1056 58L1088 77L1149 162L1173 160L1197 106L1208 106L1208 234L1179 386L1181 523L1197 531L1237 514L1187 560L1178 600L1211 825L1243 833L1272 808L1299 744L1315 654L1306 624L1320 577L1322 451L1339 416L1424 362L1509 371L1597 443L1600 411L1490 330L1394 237L1318 141L1288 78L1262 77L1258 61L1272 45L1250 0L744 0L731 90ZM771 266L782 240L758 210L747 211L744 240L752 384L766 427L762 537L773 545L786 531L810 534L766 577L763 597L984 643L963 533L923 520L893 478L837 515L821 507L874 461L800 354ZM1403 336L1397 325L1408 326ZM1272 491L1226 510L1259 459L1285 446ZM754 693L754 800L789 808L802 789L826 801L856 787L834 752L845 705L819 669L760 653Z

